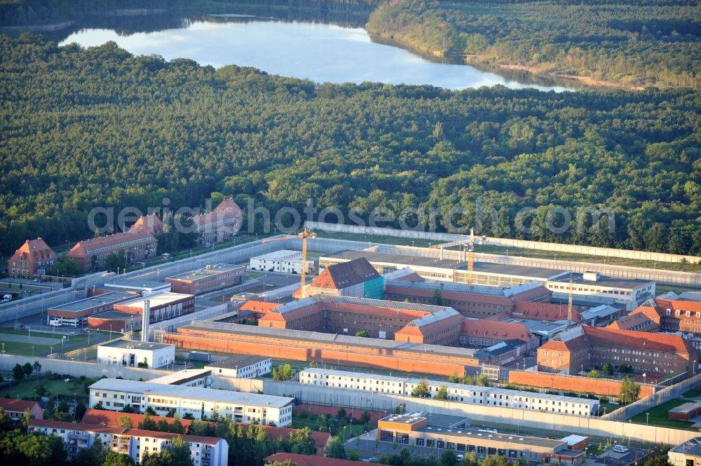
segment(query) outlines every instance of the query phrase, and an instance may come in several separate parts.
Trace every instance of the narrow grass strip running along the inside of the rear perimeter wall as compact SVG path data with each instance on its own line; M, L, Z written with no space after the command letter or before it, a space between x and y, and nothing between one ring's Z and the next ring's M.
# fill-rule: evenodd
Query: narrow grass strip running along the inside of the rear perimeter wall
M395 236L382 235L356 235L353 233L341 232L326 232L318 231L319 238L336 238L339 240L353 241L369 241L383 242L388 245L403 245L416 247L428 247L436 244L429 240L412 240L411 238L397 238ZM569 252L552 252L541 251L540 249L522 249L518 247L501 247L491 245L475 245L475 252L484 252L487 254L504 254L510 256L532 257L533 259L554 259L562 261L577 261L577 262L594 262L603 263L611 266L627 266L627 267L643 267L643 268L660 268L662 270L677 270L681 272L700 272L701 266L693 263L674 263L674 262L653 262L639 261L636 259L625 259L621 257L603 257L603 256L587 256L584 254L576 254Z

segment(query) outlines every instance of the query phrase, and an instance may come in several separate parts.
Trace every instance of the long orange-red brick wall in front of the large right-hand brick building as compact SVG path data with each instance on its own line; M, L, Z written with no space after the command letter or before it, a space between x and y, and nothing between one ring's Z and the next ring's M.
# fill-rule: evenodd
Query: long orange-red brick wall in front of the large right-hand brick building
M564 390L566 392L593 393L594 395L606 395L609 397L618 397L620 394L620 381L604 378L561 376L531 371L509 371L509 383ZM649 397L654 392L655 385L640 385L640 398Z

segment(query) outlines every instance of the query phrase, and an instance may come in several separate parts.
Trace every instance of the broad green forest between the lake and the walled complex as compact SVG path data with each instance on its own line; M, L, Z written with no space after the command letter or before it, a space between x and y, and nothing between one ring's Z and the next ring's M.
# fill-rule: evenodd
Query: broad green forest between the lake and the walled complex
M212 193L273 214L312 198L366 223L376 207L414 210L409 226L435 210L438 230L701 254L694 90L316 85L34 34L0 36L0 56L5 254L92 237L93 207L202 207ZM547 228L557 206L581 228ZM589 207L611 209L614 231Z

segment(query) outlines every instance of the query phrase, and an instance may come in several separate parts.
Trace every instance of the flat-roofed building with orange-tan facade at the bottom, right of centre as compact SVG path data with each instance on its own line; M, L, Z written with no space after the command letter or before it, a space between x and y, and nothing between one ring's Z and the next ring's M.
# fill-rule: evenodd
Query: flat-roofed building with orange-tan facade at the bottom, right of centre
M569 450L566 441L499 434L471 429L434 425L433 418L424 416L392 415L377 423L377 441L410 448L427 448L437 451L452 450L458 455L475 453L477 458L501 456L508 461L550 461L550 458L580 465L583 451Z

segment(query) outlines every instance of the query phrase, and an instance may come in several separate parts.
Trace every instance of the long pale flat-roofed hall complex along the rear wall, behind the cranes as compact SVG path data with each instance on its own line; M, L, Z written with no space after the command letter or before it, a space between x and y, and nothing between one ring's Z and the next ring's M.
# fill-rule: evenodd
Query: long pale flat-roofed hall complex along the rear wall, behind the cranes
M613 300L632 310L655 294L655 282L636 279L616 279L597 273L571 273L569 270L513 266L501 263L475 262L473 270L468 270L464 261L436 259L434 257L405 256L374 251L343 250L320 257L319 266L327 267L365 257L379 273L409 267L428 280L509 287L537 282L553 293L553 296L573 295L587 299ZM569 280L573 279L570 286ZM477 317L477 316L476 316Z

